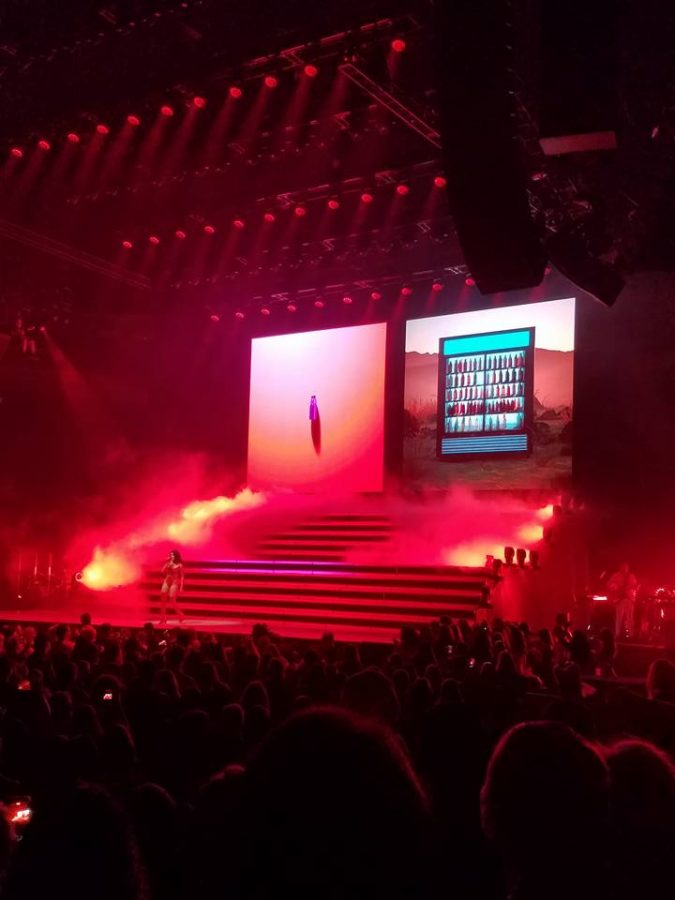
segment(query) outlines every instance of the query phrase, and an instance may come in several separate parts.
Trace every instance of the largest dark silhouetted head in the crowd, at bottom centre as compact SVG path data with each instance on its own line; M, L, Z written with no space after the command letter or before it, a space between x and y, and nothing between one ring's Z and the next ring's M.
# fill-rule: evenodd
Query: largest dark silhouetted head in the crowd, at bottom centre
M428 813L397 738L339 710L297 714L253 754L235 896L427 896Z

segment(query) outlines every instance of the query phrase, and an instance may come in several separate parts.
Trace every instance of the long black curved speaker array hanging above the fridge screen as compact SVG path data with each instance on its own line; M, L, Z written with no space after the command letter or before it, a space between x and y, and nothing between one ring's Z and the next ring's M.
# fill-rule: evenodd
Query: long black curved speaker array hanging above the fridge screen
M440 132L450 211L483 294L533 287L545 255L517 135L508 0L436 0Z

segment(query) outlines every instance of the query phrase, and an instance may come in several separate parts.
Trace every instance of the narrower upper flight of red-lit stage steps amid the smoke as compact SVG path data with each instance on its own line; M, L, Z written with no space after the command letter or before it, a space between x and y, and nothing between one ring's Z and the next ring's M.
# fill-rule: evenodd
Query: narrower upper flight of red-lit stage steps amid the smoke
M381 515L323 515L262 541L260 559L338 562L350 551L367 552L389 540L392 525Z

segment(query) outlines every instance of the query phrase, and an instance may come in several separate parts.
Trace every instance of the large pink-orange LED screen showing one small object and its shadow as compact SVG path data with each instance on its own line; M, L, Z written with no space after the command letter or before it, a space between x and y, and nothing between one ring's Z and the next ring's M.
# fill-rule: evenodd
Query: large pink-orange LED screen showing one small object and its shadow
M382 490L386 327L360 325L252 341L251 486Z

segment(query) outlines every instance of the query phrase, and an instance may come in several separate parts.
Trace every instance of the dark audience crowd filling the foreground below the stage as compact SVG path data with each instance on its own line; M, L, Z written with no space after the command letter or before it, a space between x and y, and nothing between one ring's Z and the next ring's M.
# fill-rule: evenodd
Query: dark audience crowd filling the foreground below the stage
M0 626L1 896L673 896L675 666L614 669L564 617Z

